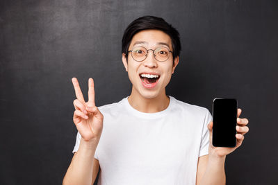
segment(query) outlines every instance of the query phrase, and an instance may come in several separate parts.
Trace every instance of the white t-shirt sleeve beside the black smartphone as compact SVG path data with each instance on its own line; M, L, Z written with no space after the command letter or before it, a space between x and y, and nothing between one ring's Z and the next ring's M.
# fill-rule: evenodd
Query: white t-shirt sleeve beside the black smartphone
M206 109L206 115L204 117L204 123L203 123L201 146L199 150L199 157L203 155L208 155L208 146L209 146L208 123L210 123L212 120L213 120L213 116L211 116L211 113L208 111L208 109Z

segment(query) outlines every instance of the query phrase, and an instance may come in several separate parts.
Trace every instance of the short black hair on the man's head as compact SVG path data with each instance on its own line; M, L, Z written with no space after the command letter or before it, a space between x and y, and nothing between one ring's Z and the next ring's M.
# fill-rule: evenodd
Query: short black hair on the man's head
M149 15L135 19L131 22L131 24L129 24L129 26L127 26L126 30L124 30L124 35L122 36L122 53L126 54L126 61L127 56L129 54L129 45L131 44L131 39L133 38L133 36L141 30L150 29L161 30L170 36L172 42L174 62L174 59L177 58L177 56L179 56L179 53L181 51L181 41L179 39L179 32L176 28L174 28L171 24L168 24L161 17L154 17Z

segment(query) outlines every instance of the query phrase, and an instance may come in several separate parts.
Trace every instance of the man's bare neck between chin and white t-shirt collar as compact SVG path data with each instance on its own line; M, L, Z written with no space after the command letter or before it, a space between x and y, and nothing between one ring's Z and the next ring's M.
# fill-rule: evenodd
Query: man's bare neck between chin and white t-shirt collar
M146 113L161 112L166 109L170 103L170 98L165 94L165 89L155 98L145 98L132 87L131 95L128 100L131 107Z

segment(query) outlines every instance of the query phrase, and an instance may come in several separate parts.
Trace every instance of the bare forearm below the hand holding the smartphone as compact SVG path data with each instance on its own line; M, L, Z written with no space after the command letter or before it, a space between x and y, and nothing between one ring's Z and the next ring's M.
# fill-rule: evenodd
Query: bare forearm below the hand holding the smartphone
M226 175L224 170L225 159L226 157L215 158L208 156L208 164L200 185L226 184Z

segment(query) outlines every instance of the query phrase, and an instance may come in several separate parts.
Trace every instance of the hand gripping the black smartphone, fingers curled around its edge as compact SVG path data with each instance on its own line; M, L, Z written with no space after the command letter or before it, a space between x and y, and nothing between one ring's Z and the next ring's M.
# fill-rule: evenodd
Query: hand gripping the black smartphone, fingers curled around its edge
M244 139L244 134L246 134L249 131L249 127L246 125L248 124L247 118L239 118L242 110L238 109L238 118L237 118L237 126L236 131L238 132L236 134L236 146L234 148L226 148L226 147L214 147L212 145L212 129L213 129L213 122L211 121L208 123L208 131L209 131L209 149L208 154L212 155L213 157L225 157L226 155L229 155L229 153L233 152L241 146Z

